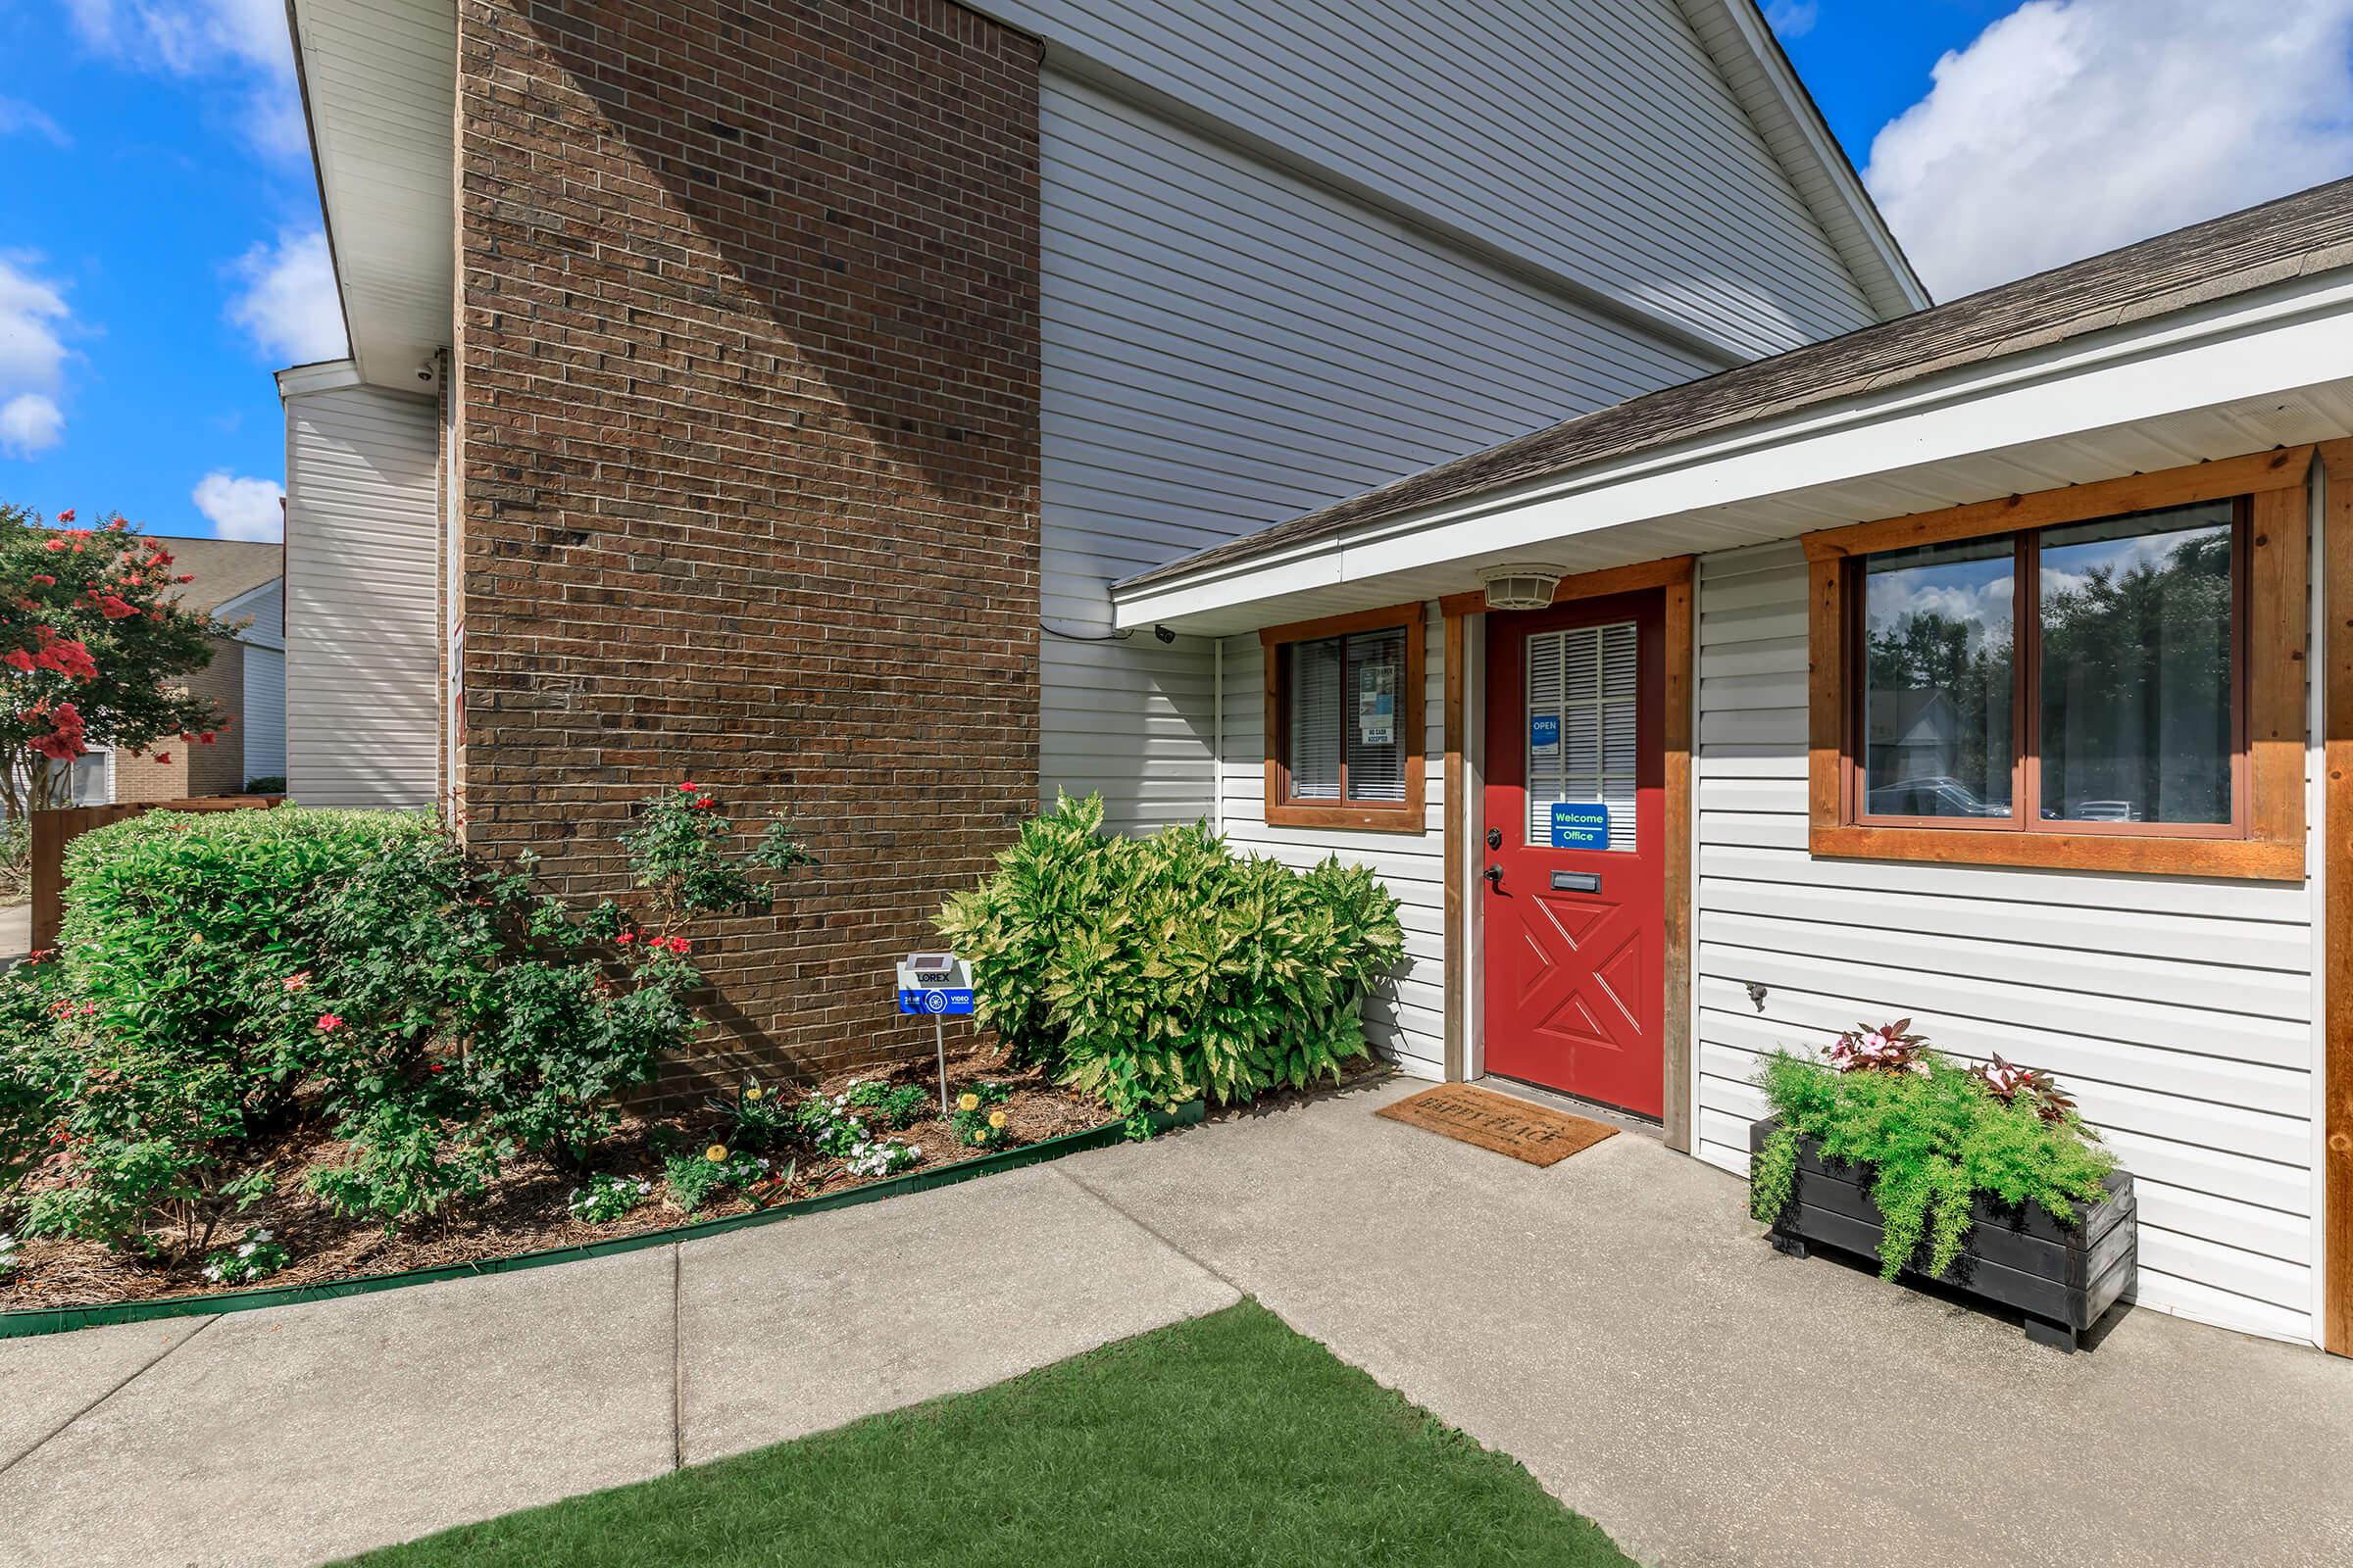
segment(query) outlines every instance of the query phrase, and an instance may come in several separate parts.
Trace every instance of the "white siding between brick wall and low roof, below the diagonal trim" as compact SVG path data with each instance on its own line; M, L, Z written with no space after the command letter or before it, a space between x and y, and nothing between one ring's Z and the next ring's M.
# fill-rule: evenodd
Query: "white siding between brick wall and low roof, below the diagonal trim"
M1111 581L1706 364L1268 165L1042 85L1040 797L1209 813L1209 646Z

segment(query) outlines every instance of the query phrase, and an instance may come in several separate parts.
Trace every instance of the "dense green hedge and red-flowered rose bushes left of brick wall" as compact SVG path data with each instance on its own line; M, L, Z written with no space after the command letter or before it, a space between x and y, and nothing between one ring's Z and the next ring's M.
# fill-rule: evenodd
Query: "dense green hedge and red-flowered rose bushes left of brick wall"
M144 1248L160 1227L174 1258L200 1255L271 1190L252 1147L292 1117L346 1147L311 1187L395 1225L522 1152L584 1166L616 1093L696 1027L675 926L772 898L746 865L807 863L781 827L739 849L689 809L692 846L633 853L649 929L400 813L148 813L82 835L64 959L0 978L0 1023L26 1025L0 1044L0 1175L33 1166L24 1229Z

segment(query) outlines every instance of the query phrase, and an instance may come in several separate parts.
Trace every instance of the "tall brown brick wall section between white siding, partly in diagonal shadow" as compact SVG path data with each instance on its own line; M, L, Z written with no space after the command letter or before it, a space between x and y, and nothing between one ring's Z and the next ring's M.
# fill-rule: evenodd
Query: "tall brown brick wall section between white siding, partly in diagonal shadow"
M1035 802L1038 45L936 0L459 5L468 837L619 886L696 778L821 856L711 1070L889 1013Z

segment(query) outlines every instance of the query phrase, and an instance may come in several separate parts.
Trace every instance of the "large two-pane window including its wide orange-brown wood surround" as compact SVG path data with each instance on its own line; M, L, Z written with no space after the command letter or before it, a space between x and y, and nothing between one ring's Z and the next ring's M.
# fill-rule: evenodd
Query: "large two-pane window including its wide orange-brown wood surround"
M1809 849L2301 877L2308 470L1809 534Z

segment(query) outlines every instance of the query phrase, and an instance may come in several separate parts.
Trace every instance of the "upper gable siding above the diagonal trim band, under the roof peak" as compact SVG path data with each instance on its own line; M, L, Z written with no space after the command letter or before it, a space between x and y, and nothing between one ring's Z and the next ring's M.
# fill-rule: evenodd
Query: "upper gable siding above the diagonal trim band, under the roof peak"
M1675 0L986 9L1734 357L1878 320Z

